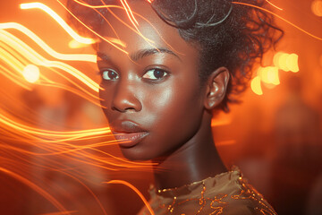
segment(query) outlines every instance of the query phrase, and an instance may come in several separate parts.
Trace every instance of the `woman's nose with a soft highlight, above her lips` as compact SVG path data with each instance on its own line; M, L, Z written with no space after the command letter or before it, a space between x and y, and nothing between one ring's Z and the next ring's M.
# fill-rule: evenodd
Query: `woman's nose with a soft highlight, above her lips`
M120 112L140 111L142 106L135 92L136 88L132 82L120 81L114 91L112 109Z

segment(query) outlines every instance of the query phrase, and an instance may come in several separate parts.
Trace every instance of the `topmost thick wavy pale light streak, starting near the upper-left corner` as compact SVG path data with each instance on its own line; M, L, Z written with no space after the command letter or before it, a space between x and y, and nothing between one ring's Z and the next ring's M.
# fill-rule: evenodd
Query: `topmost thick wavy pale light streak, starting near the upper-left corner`
M63 18L60 17L55 11L53 11L50 7L48 7L46 4L42 3L26 3L26 4L20 4L21 9L34 9L38 8L44 12L46 12L48 15L50 15L66 32L71 35L73 39L76 39L80 43L84 44L93 44L95 43L94 39L84 38L81 37L78 33L76 33L72 28L64 22Z

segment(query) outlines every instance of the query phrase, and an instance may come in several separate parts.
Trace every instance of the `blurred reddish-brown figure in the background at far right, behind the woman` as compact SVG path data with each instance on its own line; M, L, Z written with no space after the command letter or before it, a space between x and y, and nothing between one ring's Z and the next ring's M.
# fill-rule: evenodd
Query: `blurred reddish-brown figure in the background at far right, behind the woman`
M302 99L299 77L289 78L287 87L289 94L275 114L272 199L279 214L308 214L309 193L321 173L320 116Z

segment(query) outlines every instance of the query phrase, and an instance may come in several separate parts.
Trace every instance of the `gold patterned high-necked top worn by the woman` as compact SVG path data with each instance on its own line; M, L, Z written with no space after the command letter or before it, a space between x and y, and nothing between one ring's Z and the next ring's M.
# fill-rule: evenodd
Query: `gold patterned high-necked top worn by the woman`
M276 215L238 168L173 189L157 191L152 186L149 192L149 204L156 215ZM139 214L150 212L145 207Z

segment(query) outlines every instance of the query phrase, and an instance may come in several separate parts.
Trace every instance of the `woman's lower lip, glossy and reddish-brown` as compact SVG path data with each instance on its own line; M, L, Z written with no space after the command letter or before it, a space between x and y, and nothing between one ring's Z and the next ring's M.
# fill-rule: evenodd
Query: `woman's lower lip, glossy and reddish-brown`
M123 148L130 148L139 143L143 138L145 138L148 133L147 132L139 132L139 133L117 133L113 132L114 138L119 142L119 146Z

